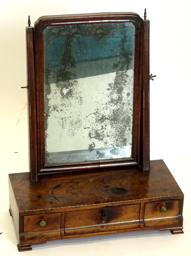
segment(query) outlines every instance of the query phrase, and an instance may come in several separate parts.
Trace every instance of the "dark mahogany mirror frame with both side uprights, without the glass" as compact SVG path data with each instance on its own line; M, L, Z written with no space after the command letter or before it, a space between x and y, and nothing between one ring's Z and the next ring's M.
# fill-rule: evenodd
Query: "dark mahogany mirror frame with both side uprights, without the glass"
M43 31L48 26L101 22L132 22L135 26L132 158L72 164L45 164L44 143L44 48ZM149 170L149 21L133 12L91 13L40 17L26 28L28 71L28 124L30 180L50 172L89 170L137 165ZM109 168L108 168L109 170Z

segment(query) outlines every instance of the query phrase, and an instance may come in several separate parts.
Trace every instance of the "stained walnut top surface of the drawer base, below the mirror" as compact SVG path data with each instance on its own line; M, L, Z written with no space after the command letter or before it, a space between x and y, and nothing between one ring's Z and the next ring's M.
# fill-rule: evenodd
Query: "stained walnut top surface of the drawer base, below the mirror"
M150 164L150 172L118 168L44 175L37 182L30 182L28 172L23 172L9 174L9 179L19 212L183 195L163 160Z

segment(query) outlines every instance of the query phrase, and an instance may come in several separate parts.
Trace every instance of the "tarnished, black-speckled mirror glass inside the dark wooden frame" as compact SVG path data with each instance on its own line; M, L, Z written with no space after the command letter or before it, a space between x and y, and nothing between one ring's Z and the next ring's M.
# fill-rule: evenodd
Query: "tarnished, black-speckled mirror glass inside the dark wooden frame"
M135 27L44 29L45 164L130 158Z

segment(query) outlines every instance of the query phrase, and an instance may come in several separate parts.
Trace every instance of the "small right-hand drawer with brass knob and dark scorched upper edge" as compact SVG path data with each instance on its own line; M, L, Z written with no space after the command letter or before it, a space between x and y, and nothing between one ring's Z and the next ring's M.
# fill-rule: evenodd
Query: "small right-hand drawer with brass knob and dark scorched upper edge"
M176 224L179 222L178 214L179 200L146 203L144 213L145 227ZM168 223L166 223L167 221Z

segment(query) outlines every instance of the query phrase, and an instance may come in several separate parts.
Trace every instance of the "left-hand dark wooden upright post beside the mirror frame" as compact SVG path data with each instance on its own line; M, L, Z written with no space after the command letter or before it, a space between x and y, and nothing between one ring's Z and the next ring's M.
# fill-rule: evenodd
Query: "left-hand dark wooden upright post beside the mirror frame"
M34 66L33 27L26 28L27 42L27 88L28 88L28 139L29 139L29 178L37 181L37 136L36 136L36 89Z

